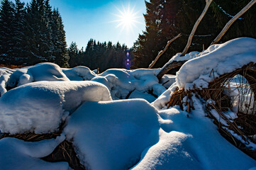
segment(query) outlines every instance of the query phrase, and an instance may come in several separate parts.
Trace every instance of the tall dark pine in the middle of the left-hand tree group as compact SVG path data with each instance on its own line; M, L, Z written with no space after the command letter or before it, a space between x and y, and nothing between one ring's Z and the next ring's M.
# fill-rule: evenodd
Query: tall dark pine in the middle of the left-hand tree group
M43 0L32 0L27 6L26 13L26 50L30 64L38 62L52 62L48 18L45 16L45 4Z

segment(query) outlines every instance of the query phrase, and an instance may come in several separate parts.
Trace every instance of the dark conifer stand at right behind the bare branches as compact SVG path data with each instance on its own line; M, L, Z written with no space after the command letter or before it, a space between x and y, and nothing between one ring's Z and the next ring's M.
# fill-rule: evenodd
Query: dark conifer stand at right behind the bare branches
M193 38L190 51L202 51L211 44L226 23L235 16L250 0L214 0L206 16L201 21ZM168 40L179 33L167 52L160 57L155 67L162 67L177 52L182 52L191 30L201 15L205 0L150 0L145 1L144 14L146 28L134 44L135 60L133 68L148 67L158 52L163 50ZM256 6L252 6L223 37L222 41L238 38L256 38Z

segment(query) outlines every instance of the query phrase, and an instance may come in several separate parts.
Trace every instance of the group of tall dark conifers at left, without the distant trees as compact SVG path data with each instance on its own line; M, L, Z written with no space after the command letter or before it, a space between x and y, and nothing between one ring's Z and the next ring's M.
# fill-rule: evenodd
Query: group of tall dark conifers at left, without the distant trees
M62 18L50 0L1 1L0 62L36 64L55 62L68 66L67 42Z

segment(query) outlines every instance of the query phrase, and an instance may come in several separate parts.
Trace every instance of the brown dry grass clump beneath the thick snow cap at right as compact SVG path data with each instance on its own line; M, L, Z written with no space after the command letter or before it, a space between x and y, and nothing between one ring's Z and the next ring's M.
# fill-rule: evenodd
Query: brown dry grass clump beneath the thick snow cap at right
M238 75L240 78L234 88L230 86L230 83L234 82L234 79L238 79L238 77L235 78ZM230 98L227 91L230 94L233 91L238 91L238 95ZM256 144L256 99L254 97L256 94L256 64L250 63L236 69L234 72L221 75L221 77L211 81L207 89L195 89L193 91L177 89L172 94L168 107L179 105L183 109L183 106L187 106L187 112L189 112L192 105L192 93L204 98L204 101L211 99L215 102L206 103L205 108L207 115L213 118L213 122L218 125L221 135L256 160L256 151L246 147L249 141ZM238 118L232 118L227 114L228 111L233 109L232 101L234 100L238 101ZM212 110L216 110L219 115L218 119L212 115ZM221 123L221 120L226 122L225 125L223 125L223 122ZM236 139L230 131L240 135L244 142Z

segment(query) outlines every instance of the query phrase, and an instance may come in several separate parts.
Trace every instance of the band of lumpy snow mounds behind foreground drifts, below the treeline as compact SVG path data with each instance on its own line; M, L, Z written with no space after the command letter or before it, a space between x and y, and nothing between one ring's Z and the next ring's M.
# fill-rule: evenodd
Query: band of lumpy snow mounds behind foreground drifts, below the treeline
M21 69L0 68L0 93L1 96L6 93L6 86L15 88L35 81L90 80L104 84L114 100L128 98L128 94L137 91L138 93L135 92L132 96L152 102L155 96L160 96L166 90L158 82L158 72L160 69L108 69L101 74L95 74L88 67L61 69L53 63L40 63Z

